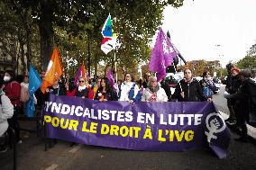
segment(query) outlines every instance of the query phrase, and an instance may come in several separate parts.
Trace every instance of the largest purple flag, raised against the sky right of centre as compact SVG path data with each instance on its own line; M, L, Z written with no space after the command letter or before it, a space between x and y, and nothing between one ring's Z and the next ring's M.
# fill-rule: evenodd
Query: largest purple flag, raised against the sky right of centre
M150 71L157 72L158 82L166 76L166 67L170 66L177 55L177 50L160 28L150 61Z

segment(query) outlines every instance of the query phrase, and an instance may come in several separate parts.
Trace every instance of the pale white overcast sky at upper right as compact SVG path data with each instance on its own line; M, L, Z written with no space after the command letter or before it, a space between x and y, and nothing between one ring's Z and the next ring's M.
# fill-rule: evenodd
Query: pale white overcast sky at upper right
M256 0L185 0L165 9L162 29L187 60L218 59L224 67L256 43Z

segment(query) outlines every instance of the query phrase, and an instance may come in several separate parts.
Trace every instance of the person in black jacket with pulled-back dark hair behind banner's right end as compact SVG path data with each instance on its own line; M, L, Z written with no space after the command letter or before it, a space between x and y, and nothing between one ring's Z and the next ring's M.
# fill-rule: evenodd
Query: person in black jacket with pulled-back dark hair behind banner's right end
M201 86L197 79L193 78L189 68L184 70L184 75L184 79L180 80L178 85L176 85L175 92L171 96L172 99L178 99L179 102L206 101ZM207 100L210 101L211 98L208 98Z

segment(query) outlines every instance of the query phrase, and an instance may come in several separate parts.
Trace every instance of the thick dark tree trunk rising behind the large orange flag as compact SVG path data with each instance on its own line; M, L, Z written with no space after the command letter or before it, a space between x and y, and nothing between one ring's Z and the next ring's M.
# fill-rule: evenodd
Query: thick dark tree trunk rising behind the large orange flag
M53 10L50 0L41 0L41 17L39 23L41 36L41 70L46 71L53 50L54 31L52 27Z

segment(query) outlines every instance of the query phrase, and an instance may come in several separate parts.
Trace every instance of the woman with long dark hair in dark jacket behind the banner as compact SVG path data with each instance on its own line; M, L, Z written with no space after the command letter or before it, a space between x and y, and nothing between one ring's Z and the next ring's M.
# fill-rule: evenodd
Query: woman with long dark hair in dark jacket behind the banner
M100 86L96 91L95 100L99 101L117 101L118 97L107 77L103 77Z

